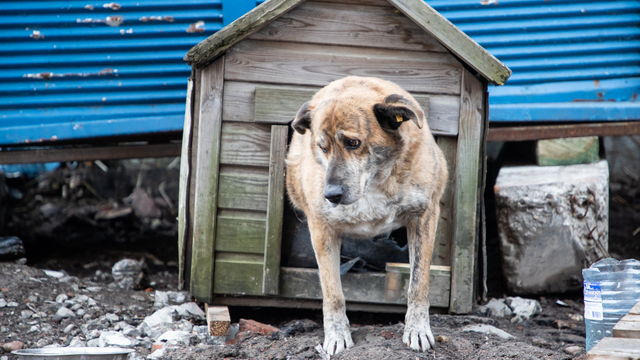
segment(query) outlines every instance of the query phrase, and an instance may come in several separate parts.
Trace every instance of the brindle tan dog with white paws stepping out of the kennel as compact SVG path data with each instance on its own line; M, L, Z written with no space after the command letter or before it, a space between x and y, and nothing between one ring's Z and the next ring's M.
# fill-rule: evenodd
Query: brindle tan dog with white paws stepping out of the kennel
M392 82L350 76L318 91L291 126L286 187L306 215L318 263L324 350L353 346L339 275L342 236L371 238L402 226L411 271L402 340L429 350L429 266L448 175L420 105Z

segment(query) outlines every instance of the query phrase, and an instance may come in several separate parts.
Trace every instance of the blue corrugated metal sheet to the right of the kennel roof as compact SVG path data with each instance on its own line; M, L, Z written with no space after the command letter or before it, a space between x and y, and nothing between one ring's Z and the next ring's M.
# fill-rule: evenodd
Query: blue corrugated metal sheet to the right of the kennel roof
M513 70L491 121L640 120L640 1L426 1Z

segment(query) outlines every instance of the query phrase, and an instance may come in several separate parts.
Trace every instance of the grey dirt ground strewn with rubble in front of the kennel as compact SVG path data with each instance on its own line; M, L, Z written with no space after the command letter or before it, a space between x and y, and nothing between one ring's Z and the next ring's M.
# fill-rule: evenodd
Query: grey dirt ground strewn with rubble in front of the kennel
M124 255L124 254L121 254ZM144 254L127 254L129 257ZM36 266L0 263L0 298L15 307L0 308L0 344L21 341L25 348L46 345L68 346L73 337L82 338L79 330L83 323L116 314L120 320L137 326L153 313L153 290L175 290L177 268L173 266L149 266L152 286L146 290L121 290L109 286L110 265L117 255L91 257L88 254L75 259L56 259ZM41 268L39 268L41 267ZM70 277L64 282L47 276L43 269L63 270ZM98 276L96 276L98 272ZM69 298L88 295L98 305L87 308L83 318L54 319L58 309L56 298L66 294ZM479 315L431 316L434 334L438 337L435 351L416 353L402 343L402 320L399 314L350 313L352 336L355 346L334 359L574 359L584 358L584 323L576 321L583 310L579 299L564 298L568 306L556 304L556 298L539 298L543 311L540 315L520 324L507 319ZM36 317L26 315L35 313ZM315 350L321 344L321 313L314 310L287 310L272 308L231 308L232 321L239 318L254 319L277 327L296 319L310 319L317 324L283 337L276 333L270 337L261 334L245 334L236 344L192 344L167 350L162 359L321 359ZM560 322L557 320L561 320ZM312 325L313 322L309 322ZM555 325L554 325L555 322ZM70 325L71 327L69 330ZM469 325L486 324L502 329L515 338L504 340L495 335L465 332ZM558 326L558 324L560 324ZM37 326L34 327L34 326ZM113 328L113 324L111 328ZM557 327L560 327L558 329ZM65 332L65 329L67 332ZM569 354L565 349L578 346L582 351ZM150 341L141 341L135 347L139 358L150 353ZM1 350L0 350L1 351ZM8 359L17 357L8 356Z

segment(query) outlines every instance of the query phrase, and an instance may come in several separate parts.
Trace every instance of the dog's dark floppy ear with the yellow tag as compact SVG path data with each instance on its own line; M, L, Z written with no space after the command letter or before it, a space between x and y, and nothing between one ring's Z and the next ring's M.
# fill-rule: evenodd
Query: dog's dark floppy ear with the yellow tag
M403 122L412 120L419 129L424 126L424 112L419 106L402 95L392 94L384 99L384 104L375 104L373 113L385 130L397 130Z

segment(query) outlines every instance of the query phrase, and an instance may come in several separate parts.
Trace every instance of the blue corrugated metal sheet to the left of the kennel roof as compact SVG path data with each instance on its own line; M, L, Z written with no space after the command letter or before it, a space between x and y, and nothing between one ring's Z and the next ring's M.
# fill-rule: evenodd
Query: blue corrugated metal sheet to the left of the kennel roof
M181 131L182 58L222 3L0 1L0 144Z

